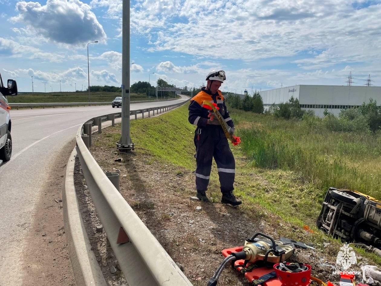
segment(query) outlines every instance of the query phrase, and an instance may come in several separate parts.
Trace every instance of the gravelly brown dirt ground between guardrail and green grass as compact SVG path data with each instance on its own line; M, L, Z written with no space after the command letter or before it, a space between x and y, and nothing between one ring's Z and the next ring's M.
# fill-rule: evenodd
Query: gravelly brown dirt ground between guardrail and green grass
M150 156L149 150L139 147L132 153L118 153L116 148L106 146L116 132L118 128L94 134L96 144L90 148L91 153L103 170L120 170L123 197L195 285L207 284L223 258L222 249L241 246L245 238L257 231L275 239L292 231L304 242L308 241L308 232L280 221L259 205L247 206L244 202L234 209L218 202L218 191L210 194L213 204L191 200L189 197L195 194L195 177L191 171L158 160ZM115 162L117 158L122 161ZM235 159L237 165L247 164L244 157L236 156ZM215 177L211 187L217 189L215 165L211 176ZM237 184L247 182L247 178L240 182L242 176L255 178L258 174L238 174ZM202 210L196 210L198 206ZM337 255L333 252L330 245L324 249L296 249L290 260L312 265L312 275L324 281L338 281L338 277L331 275ZM226 269L219 285L248 283L243 275Z

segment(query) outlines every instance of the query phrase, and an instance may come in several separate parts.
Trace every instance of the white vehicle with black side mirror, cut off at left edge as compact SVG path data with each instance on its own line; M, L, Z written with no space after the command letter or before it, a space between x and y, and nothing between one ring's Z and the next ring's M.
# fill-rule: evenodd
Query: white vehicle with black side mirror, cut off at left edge
M0 73L0 165L9 161L12 155L12 121L9 111L11 107L8 104L7 96L17 95L16 80L8 79L4 86Z

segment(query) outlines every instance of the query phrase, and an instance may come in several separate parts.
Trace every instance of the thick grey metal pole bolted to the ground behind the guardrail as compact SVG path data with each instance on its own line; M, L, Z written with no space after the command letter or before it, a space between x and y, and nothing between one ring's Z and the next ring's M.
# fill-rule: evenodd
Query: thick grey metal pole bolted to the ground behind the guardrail
M131 152L130 138L130 0L122 6L122 136L117 143L121 152Z

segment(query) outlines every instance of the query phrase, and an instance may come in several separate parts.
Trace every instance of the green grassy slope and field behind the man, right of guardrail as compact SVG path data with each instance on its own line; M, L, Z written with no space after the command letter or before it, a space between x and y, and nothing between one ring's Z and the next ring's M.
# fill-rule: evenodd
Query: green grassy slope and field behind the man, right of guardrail
M232 109L242 143L231 147L236 160L235 193L244 201L240 209L249 217L271 220L279 236L312 241L338 253L342 243L315 227L329 186L351 188L380 198L380 137L334 133L311 122L276 120ZM149 120L149 121L148 121ZM136 152L152 160L195 170L195 127L187 121L187 105L147 120L131 121ZM120 135L110 134L110 146ZM213 164L208 195L219 201L219 182ZM303 225L315 232L306 233ZM381 259L359 249L362 256L381 264Z

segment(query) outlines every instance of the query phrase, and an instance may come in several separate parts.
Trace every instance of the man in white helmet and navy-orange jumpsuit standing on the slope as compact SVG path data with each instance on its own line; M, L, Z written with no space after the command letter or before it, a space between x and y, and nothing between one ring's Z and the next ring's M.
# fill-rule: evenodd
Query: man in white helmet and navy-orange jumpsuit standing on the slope
M207 86L203 87L201 91L191 99L188 108L188 120L191 124L197 126L194 135L197 165L195 172L197 198L201 201L209 202L205 191L208 188L212 159L214 157L221 186L221 202L223 204L238 206L242 201L237 199L233 194L235 176L233 153L219 121L215 118L210 120L208 118L208 109L202 107L204 100L216 103L219 107L219 112L230 127L229 133L234 133L234 123L229 117L224 96L219 90L221 84L226 80L225 72L211 71L208 73L206 80Z

